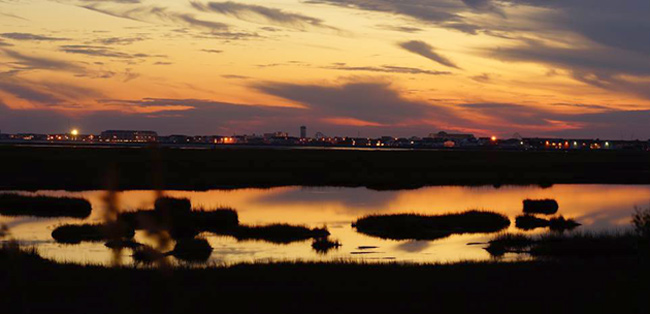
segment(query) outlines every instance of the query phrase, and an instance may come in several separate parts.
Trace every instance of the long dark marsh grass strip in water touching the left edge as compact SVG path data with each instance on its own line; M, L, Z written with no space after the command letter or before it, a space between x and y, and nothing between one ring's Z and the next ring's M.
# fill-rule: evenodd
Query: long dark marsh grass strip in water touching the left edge
M0 194L0 215L86 218L90 202L82 198Z

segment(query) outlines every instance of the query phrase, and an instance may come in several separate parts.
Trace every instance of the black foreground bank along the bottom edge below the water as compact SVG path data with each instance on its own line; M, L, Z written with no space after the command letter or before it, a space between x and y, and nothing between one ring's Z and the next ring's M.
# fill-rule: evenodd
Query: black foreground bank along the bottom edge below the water
M639 258L454 265L61 265L0 250L3 313L648 313Z

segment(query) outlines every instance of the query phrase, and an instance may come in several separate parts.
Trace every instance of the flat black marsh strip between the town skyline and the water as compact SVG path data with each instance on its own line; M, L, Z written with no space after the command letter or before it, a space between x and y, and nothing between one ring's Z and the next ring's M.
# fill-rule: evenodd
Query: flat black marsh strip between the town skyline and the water
M650 152L0 146L0 189L650 184Z

